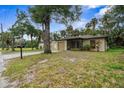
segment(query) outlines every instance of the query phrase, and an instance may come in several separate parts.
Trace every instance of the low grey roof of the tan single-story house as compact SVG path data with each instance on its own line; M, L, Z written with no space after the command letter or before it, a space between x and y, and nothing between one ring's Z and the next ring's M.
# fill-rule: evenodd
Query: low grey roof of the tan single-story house
M83 36L72 36L72 37L65 37L62 40L69 40L69 39L97 39L97 38L106 38L107 36L103 35L83 35Z

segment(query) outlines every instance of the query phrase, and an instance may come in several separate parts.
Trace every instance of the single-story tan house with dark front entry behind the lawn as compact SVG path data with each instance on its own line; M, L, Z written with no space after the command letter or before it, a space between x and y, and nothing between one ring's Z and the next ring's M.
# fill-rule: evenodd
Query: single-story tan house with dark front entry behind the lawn
M107 37L106 36L75 36L67 37L58 41L51 41L52 51L64 51L74 49L89 48L90 51L106 51L107 50Z

